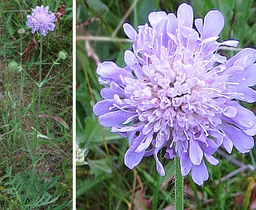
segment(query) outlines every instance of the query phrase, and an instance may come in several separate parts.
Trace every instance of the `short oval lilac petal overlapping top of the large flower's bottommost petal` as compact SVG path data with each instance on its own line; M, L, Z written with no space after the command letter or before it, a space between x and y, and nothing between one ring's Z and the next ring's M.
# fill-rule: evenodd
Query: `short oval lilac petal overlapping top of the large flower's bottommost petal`
M199 165L203 159L203 151L198 141L192 138L189 140L189 159L195 165Z

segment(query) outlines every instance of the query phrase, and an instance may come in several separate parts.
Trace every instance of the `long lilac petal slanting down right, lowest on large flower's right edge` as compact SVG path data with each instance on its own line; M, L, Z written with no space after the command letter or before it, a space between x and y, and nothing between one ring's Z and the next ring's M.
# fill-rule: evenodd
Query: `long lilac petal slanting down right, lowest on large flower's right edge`
M246 153L254 147L253 137L247 136L244 132L237 127L230 124L223 124L221 128L224 130L227 137L233 142L234 147L241 153Z

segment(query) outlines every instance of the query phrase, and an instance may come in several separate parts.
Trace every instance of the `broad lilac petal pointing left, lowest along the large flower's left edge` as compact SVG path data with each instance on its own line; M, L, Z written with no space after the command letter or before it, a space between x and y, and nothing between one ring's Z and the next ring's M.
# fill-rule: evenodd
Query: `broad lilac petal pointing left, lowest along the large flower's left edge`
M123 110L105 113L99 117L100 124L104 127L112 127L125 122L129 117L136 113L125 112Z

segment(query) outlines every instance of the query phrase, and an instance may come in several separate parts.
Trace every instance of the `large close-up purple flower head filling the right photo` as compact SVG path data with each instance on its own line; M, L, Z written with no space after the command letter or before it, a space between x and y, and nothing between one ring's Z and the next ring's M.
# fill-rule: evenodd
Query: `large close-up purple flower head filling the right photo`
M243 49L228 59L217 50L237 46L235 40L217 42L224 16L211 10L193 21L193 8L182 4L177 16L151 12L138 32L124 24L133 51L125 51L125 68L113 62L98 65L104 100L94 106L102 126L128 137L125 164L134 168L145 156L159 161L175 155L183 176L203 185L209 174L205 161L218 164L219 147L247 153L254 147L256 117L237 100L256 101L255 49ZM193 24L196 29L193 29Z

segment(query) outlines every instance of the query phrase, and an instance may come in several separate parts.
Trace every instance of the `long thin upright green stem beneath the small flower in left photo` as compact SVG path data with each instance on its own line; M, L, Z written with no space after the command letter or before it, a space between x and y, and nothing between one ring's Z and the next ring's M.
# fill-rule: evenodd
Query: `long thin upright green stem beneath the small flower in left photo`
M39 114L41 109L41 86L42 86L42 52L43 52L43 40L42 34L40 34L40 54L39 54L39 83L38 83L38 106L37 106L37 115L36 115L36 129L34 134L34 154L36 155L37 147L37 133L39 130Z

